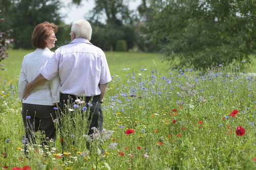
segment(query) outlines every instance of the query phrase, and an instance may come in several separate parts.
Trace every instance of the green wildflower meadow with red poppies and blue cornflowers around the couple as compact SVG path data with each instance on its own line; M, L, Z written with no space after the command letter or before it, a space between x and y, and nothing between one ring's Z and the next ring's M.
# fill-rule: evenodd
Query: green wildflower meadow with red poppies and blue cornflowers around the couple
M79 113L87 106L77 103L69 106L75 124L68 114L65 137L57 135L48 148L36 133L26 158L17 83L29 52L9 50L0 72L0 169L256 168L256 83L246 74L256 72L255 58L253 65L220 63L199 71L172 68L161 54L107 52L112 82L102 104L104 130L95 131L92 151ZM60 140L67 143L63 151Z

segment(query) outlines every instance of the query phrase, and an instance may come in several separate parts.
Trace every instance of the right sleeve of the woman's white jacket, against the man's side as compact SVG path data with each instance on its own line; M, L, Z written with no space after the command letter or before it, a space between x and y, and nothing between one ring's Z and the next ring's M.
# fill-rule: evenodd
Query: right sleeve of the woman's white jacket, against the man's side
M50 80L50 88L52 93L52 102L59 103L60 100L60 79L59 76L55 76L52 80Z

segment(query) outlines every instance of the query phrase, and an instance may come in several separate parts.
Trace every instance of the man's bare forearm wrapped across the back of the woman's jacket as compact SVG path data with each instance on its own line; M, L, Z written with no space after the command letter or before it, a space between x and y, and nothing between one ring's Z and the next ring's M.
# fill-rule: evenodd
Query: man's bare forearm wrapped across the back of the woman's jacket
M27 99L33 88L47 82L48 80L39 74L32 82L28 83L23 94L23 99Z

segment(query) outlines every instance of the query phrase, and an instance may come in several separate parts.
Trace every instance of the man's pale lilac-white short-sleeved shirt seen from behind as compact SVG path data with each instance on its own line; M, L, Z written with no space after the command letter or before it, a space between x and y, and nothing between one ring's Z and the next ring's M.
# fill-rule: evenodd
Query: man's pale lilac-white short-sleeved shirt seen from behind
M60 92L77 96L99 95L99 84L111 81L104 52L83 38L59 47L39 71L47 80L58 75Z

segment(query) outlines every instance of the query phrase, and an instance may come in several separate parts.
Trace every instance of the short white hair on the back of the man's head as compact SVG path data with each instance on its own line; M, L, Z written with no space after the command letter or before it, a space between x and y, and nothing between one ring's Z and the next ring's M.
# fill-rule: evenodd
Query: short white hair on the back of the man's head
M89 41L92 37L92 27L87 20L77 20L72 23L71 31L75 32L76 38L86 38Z

